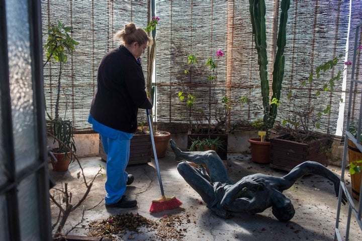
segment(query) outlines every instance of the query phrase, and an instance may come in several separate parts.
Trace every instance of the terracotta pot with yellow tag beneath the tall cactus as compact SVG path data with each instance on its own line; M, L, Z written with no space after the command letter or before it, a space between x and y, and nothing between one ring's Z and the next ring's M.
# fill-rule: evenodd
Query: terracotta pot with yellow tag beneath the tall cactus
M270 142L260 142L260 138L248 140L251 149L251 160L256 163L270 163Z

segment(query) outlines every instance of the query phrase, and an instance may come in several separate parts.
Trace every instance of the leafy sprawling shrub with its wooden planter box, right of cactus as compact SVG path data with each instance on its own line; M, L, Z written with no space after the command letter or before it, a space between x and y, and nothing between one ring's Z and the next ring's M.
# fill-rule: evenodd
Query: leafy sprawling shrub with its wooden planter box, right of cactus
M339 70L331 78L326 78L323 72L329 72L338 63L341 55L326 61L316 67L308 78L302 79L298 91L289 91L288 99L293 101L288 114L285 114L280 130L286 134L270 140L270 166L290 171L305 161L315 161L327 165L327 155L330 145L325 134L317 132L320 128L320 118L331 114L331 104L326 104L323 111L315 106L306 106L301 99L304 98L304 87L318 81L320 89L316 89L314 97L318 98L322 92L331 94L340 83L342 71ZM308 80L308 81L307 81ZM323 82L325 80L325 82ZM314 87L315 88L315 87ZM309 92L309 89L306 89ZM341 100L342 101L342 100Z

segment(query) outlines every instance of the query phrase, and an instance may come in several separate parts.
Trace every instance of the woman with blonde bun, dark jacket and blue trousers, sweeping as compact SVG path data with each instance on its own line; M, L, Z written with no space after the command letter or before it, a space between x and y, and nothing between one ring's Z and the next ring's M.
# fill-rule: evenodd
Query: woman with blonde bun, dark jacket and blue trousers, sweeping
M131 208L136 200L124 196L133 182L126 167L130 142L137 129L138 108L151 109L140 57L152 40L134 23L114 35L120 46L109 51L98 68L97 91L88 122L100 133L107 154L106 207Z

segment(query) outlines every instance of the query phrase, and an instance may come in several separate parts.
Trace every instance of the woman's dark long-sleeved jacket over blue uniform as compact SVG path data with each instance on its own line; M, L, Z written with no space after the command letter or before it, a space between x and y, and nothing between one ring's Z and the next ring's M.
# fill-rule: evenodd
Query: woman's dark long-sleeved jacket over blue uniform
M151 109L141 64L121 45L108 52L98 68L91 114L110 128L134 133L138 108Z

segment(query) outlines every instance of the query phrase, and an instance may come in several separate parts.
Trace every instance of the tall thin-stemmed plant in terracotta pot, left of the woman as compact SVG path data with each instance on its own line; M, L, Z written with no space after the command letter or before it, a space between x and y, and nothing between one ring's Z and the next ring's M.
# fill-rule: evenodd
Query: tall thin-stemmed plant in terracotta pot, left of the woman
M44 66L54 60L59 64L58 82L57 82L57 95L54 107L54 116L49 114L46 110L48 119L46 119L48 136L53 138L53 144L57 143L57 147L52 149L52 153L56 157L57 162L52 161L54 171L67 171L68 165L72 160L73 153L76 152L75 143L73 139L73 125L72 122L66 118L66 108L64 116L60 116L59 102L61 85L61 74L63 64L67 61L67 54L74 52L74 46L79 43L69 36L72 28L66 27L58 21L57 25L50 25L48 28L48 39L44 46L47 50L46 62Z

